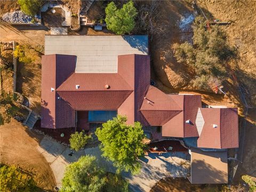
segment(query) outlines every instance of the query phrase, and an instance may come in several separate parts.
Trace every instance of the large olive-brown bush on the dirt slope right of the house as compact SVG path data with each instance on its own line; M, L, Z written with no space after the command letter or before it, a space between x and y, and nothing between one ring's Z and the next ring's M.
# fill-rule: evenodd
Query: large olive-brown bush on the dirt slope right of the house
M212 79L222 82L228 77L226 64L237 53L234 47L228 45L227 35L219 26L206 29L203 17L195 19L193 31L193 44L173 45L174 57L194 72L191 82L196 89L210 90L214 85Z

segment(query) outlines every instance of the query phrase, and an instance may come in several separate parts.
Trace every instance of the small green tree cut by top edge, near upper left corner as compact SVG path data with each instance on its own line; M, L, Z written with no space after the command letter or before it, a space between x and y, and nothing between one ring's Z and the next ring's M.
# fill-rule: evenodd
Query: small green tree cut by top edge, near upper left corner
M42 2L38 0L18 0L21 11L34 17L42 6Z

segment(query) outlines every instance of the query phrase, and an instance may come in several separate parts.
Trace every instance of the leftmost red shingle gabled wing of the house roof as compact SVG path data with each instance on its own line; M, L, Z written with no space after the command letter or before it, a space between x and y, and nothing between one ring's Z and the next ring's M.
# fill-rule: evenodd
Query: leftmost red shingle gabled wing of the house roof
M63 100L58 100L56 89L75 71L74 55L42 56L41 126L44 128L74 127L75 111ZM51 88L54 91L51 91Z

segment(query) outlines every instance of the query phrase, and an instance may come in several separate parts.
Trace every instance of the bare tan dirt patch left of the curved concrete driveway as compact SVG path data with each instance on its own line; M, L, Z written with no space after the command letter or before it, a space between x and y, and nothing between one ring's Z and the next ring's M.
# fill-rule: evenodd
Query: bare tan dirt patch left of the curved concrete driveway
M53 191L55 181L51 168L37 150L42 135L34 134L15 120L0 126L0 133L1 163L16 165L29 172L42 189L39 191Z

